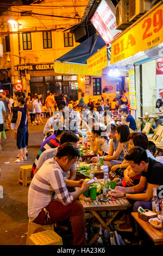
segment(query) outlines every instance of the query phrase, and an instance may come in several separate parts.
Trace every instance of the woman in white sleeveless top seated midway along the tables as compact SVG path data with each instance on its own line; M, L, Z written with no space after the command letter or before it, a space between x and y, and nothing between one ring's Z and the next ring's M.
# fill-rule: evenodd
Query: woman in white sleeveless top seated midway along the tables
M109 154L109 138L106 128L101 124L92 126L92 137L90 138L91 148L94 154Z

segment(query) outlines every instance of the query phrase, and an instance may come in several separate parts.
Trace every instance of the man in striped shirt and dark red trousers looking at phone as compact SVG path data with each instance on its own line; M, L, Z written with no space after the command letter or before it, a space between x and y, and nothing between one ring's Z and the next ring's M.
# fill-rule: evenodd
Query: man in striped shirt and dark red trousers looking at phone
M66 142L57 151L55 159L42 164L29 186L28 216L37 224L52 224L71 217L73 245L86 245L84 208L78 197L89 189L90 183L64 179L64 172L80 157L79 150ZM69 193L67 187L80 187Z

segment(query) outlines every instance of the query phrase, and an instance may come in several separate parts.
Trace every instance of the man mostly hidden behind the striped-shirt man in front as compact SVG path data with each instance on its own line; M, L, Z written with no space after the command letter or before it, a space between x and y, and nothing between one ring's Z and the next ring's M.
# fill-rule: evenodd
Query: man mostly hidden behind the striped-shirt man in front
M64 132L60 137L60 145L64 144L65 142L71 142L74 147L77 147L78 141L79 141L79 137L77 137L73 132ZM58 147L47 149L40 155L39 159L35 161L36 167L35 167L34 175L47 159L52 157L55 158L55 156L57 155L57 150L58 150ZM77 168L76 163L74 163L70 170L70 177L68 178L69 180L76 179L76 168Z

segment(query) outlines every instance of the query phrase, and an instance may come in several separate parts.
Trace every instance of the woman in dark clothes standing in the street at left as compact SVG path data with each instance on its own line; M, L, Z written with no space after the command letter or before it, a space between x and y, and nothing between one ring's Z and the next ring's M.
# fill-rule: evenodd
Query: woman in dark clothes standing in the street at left
M27 132L27 105L23 97L18 97L17 121L15 127L15 139L18 148L18 159L14 163L27 160L26 157L26 132Z

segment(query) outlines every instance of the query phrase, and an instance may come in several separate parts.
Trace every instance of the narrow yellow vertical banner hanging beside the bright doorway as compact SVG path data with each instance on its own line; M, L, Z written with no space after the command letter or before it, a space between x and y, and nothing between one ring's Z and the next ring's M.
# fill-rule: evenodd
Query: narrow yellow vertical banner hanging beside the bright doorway
M136 96L135 96L135 72L134 69L129 70L129 98L130 108L136 110Z

